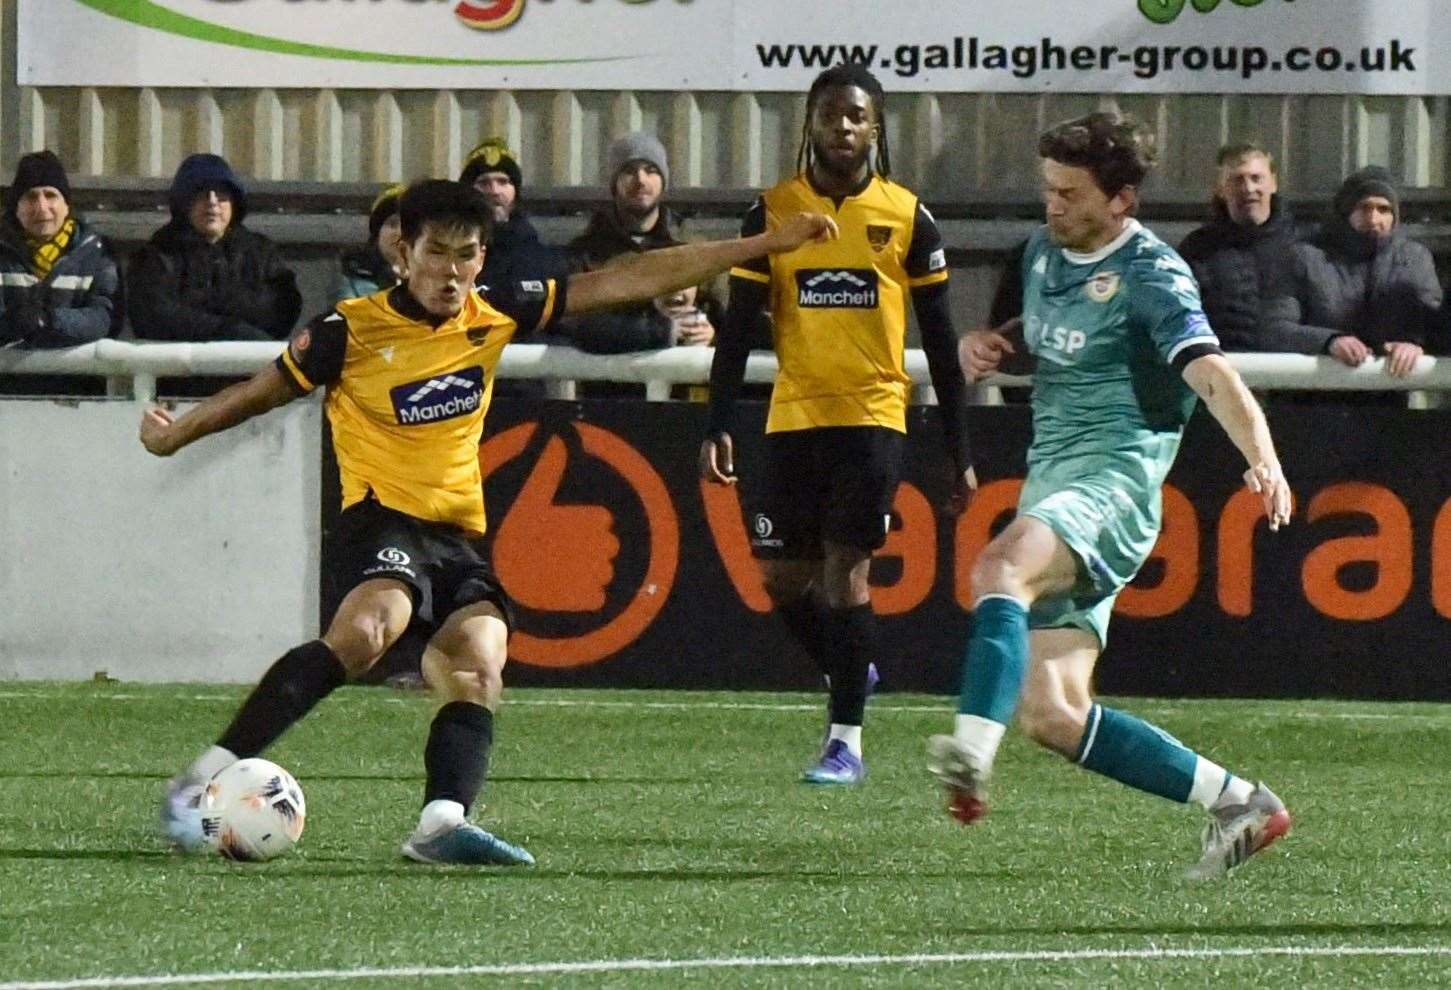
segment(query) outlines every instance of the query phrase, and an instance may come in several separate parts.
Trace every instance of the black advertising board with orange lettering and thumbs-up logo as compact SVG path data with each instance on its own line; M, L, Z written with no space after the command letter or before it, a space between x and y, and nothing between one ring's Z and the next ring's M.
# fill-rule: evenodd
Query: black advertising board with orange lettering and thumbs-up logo
M489 553L514 597L517 685L810 688L820 676L770 604L747 525L763 408L743 409L740 483L696 480L704 406L499 401L482 449ZM1190 425L1162 537L1119 598L1106 692L1451 698L1451 412L1284 405L1271 424L1294 521L1270 533L1212 420ZM1030 434L981 408L982 489L946 494L936 414L911 411L892 528L872 563L888 688L953 692L969 572L1011 518Z

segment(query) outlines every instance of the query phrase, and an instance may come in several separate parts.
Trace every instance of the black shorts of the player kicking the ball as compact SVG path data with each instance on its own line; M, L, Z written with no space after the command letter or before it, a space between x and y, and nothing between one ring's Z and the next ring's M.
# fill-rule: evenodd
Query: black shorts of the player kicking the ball
M445 523L428 523L373 498L338 515L325 562L335 601L364 581L392 578L414 592L414 618L435 629L460 608L492 602L514 629L514 604L473 539Z

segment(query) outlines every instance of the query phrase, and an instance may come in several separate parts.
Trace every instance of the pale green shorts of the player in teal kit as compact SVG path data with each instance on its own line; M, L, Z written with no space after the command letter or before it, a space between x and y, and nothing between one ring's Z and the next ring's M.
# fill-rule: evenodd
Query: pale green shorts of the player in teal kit
M1045 523L1078 557L1078 582L1065 595L1033 602L1029 629L1082 629L1100 647L1107 645L1113 602L1154 550L1162 505L1158 486L1145 492L1114 472L1071 482L1053 472L1029 473L1019 514Z

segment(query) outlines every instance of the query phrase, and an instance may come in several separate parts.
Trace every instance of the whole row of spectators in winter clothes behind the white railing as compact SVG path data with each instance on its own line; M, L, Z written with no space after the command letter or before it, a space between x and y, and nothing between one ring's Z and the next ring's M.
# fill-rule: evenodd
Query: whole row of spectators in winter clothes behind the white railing
M480 285L589 271L621 257L681 244L682 218L667 205L670 167L653 135L628 134L607 152L608 202L562 247L546 244L528 216L518 155L489 138L467 155L459 180L493 209ZM369 238L338 257L334 299L399 282L398 199L385 189L369 212ZM120 332L168 341L284 340L302 293L277 247L247 228L247 187L219 155L194 154L177 168L170 221L125 264L112 244L71 209L65 168L51 151L20 158L0 218L0 348L54 348ZM1451 334L1431 251L1402 224L1402 196L1378 167L1345 179L1331 215L1303 228L1278 192L1274 155L1252 142L1217 155L1212 215L1181 244L1210 324L1230 351L1328 354L1348 366L1386 357L1407 375ZM992 319L1016 315L1013 266ZM650 303L566 325L582 350L621 353L710 345L720 293L699 286Z

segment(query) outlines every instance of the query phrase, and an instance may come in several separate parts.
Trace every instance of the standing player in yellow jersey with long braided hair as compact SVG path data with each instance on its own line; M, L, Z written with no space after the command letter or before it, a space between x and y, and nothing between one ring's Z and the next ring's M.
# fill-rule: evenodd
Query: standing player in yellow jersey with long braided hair
M840 237L731 270L701 446L702 478L733 483L733 408L769 311L781 370L766 418L766 495L750 530L776 613L830 690L827 739L802 777L811 784L858 784L866 772L862 716L876 659L868 569L887 540L901 470L908 296L958 508L977 483L942 235L917 196L887 177L884 102L862 65L829 68L811 84L800 173L756 200L741 232L778 229L805 209L831 216Z

